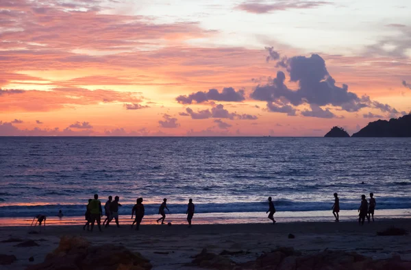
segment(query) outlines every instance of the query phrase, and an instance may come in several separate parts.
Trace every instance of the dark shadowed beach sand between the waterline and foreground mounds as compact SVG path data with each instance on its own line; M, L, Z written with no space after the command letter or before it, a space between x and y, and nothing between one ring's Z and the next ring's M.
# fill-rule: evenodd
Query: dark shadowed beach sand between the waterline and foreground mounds
M18 243L0 243L1 254L13 254L18 259L0 269L25 269L42 262L45 255L58 246L60 236L75 235L88 238L95 245L113 243L139 251L153 264L153 269L195 269L186 267L195 254L206 247L209 251L249 251L247 255L232 256L238 262L253 260L262 252L277 246L295 247L303 253L335 249L356 251L372 258L399 255L411 260L411 236L377 236L376 232L395 225L409 230L411 219L392 219L366 223L356 222L295 222L225 225L142 225L140 231L110 226L99 232L87 232L79 225L47 226L39 234L28 234L27 227L0 227L0 241L10 237L31 239L39 246L16 247ZM295 234L289 239L288 234ZM29 257L34 262L29 262Z

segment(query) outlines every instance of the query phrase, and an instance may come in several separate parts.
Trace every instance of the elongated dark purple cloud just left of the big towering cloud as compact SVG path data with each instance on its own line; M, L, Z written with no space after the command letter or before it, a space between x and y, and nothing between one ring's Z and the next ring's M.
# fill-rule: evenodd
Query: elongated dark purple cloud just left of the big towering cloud
M178 103L191 104L193 101L195 103L203 103L206 101L232 101L239 102L245 100L244 90L234 90L234 88L223 88L222 92L219 90L210 89L208 92L197 92L190 95L180 95L176 98Z

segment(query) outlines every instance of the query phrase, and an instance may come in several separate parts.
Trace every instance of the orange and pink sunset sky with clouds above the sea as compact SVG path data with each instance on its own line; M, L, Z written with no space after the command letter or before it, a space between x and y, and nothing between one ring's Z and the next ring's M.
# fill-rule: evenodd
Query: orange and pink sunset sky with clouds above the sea
M408 0L2 0L0 136L323 136L411 111Z

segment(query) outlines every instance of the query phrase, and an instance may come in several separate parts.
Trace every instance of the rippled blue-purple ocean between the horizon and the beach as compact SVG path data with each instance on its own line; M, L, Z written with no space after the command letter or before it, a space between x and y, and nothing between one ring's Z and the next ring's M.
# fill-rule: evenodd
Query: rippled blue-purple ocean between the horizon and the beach
M330 212L333 193L343 212L370 192L376 212L406 210L410 154L409 138L0 137L0 217L81 217L95 193L120 214L138 197L147 214L192 198L202 217L265 217L269 196L277 212Z

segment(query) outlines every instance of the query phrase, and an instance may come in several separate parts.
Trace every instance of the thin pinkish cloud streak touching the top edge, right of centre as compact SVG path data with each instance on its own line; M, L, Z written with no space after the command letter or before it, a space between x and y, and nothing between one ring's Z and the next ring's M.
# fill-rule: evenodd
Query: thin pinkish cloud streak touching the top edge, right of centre
M254 14L264 14L275 11L290 9L319 8L321 5L329 5L329 1L302 1L302 0L279 0L275 3L261 3L260 1L249 1L238 5L238 9Z

